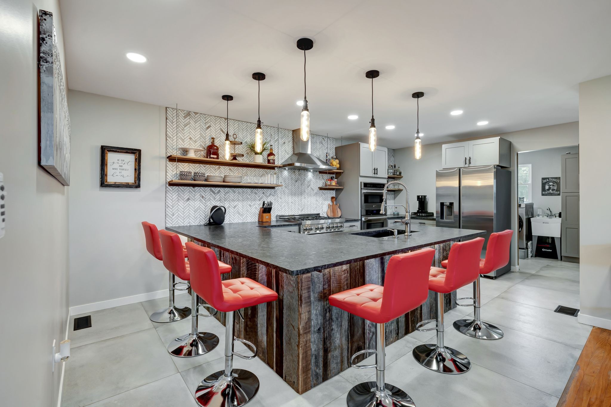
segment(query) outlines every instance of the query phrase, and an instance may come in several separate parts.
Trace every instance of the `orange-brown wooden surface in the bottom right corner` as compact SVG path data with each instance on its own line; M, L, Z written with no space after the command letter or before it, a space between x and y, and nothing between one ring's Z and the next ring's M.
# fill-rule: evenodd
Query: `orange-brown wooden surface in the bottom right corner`
M611 331L593 328L557 407L611 406Z

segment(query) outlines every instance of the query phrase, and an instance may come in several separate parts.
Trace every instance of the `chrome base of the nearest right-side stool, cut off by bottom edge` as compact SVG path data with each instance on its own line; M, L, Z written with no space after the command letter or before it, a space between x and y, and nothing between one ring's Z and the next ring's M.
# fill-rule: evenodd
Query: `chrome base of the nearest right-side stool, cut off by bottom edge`
M399 387L384 384L385 392L376 391L375 381L366 381L348 392L348 407L415 407L414 401Z

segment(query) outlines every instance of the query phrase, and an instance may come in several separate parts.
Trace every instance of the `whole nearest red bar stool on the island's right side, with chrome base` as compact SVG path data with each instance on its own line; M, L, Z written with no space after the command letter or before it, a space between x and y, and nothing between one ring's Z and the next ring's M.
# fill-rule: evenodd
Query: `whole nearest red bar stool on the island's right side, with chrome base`
M420 306L428 298L428 273L435 250L425 248L395 254L386 267L384 286L365 284L329 296L329 304L376 324L376 348L355 353L350 364L357 369L376 368L376 381L359 383L348 392L348 407L414 407L411 397L384 378L386 353L384 323ZM376 364L358 366L354 358L375 353Z

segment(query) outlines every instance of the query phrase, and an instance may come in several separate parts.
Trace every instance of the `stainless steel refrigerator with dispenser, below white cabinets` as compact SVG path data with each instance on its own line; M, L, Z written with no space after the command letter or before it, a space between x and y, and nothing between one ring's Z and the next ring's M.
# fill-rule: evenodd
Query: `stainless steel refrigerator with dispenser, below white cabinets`
M485 230L511 229L511 173L495 165L448 168L436 173L436 225L442 228ZM488 276L498 277L511 270L507 264Z

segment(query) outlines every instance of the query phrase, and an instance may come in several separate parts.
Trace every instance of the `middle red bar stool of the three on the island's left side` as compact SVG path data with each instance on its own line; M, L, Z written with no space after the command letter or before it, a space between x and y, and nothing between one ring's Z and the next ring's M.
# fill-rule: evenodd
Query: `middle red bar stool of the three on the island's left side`
M166 266L170 273L180 279L191 281L191 273L189 262L185 261L183 253L183 243L180 242L180 237L177 234L168 231L159 231L159 240L161 240L161 250L163 251L163 265ZM194 244L194 243L193 243ZM214 251L212 252L214 253ZM214 255L216 260L216 254ZM231 266L221 261L216 260L217 270L219 273L230 273ZM192 358L193 356L203 355L216 348L219 344L219 337L209 332L199 332L197 330L197 316L211 317L214 314L200 314L197 309L200 306L208 306L208 304L200 304L197 294L193 292L191 287L191 333L179 336L172 341L167 347L167 351L174 356L180 358Z

